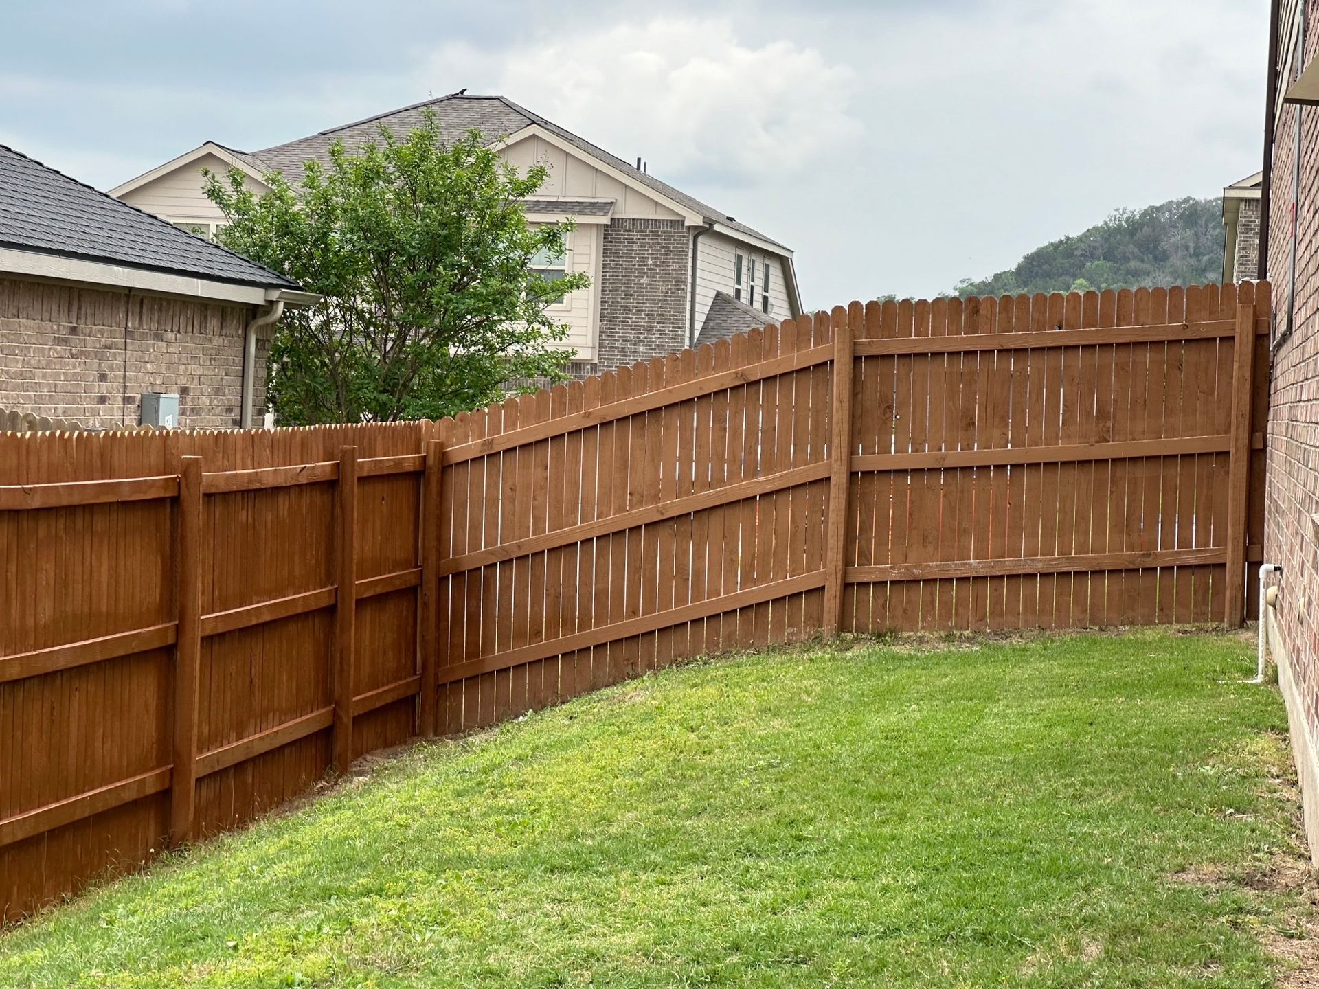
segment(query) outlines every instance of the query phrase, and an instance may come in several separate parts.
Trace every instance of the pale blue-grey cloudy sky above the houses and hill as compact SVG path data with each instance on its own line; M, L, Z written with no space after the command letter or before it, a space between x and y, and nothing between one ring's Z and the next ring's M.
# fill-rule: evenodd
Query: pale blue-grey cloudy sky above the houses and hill
M930 295L1260 169L1268 0L5 3L0 144L109 189L460 88L795 252Z

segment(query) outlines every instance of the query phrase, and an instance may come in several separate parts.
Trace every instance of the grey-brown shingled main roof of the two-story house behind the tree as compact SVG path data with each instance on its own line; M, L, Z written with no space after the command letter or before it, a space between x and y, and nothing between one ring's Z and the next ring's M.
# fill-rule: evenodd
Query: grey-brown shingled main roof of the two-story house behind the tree
M603 148L591 144L586 138L578 137L571 131L546 120L538 113L533 113L532 111L520 107L505 96L468 96L466 94L455 92L448 96L439 96L438 99L414 103L410 107L402 107L401 109L392 109L363 120L355 120L351 124L344 124L343 127L331 128L328 131L321 131L319 133L301 137L297 141L280 144L274 148L265 148L252 153L233 152L232 149L228 150L243 158L255 169L261 171L284 171L285 174L294 177L302 169L303 162L309 160L328 162L330 146L335 141L343 141L344 148L352 152L369 141L379 140L381 124L388 127L394 133L408 133L417 129L422 125L427 111L435 115L435 124L439 127L441 137L446 141L454 140L468 131L480 131L481 135L484 135L485 138L493 144L504 137L522 131L526 127L537 124L578 150L627 174L629 178L640 182L652 191L679 203L692 212L700 214L700 216L710 223L720 223L733 231L757 237L774 247L780 247L783 251L789 249L782 243L768 237L752 227L748 227L745 223L739 223L721 210L716 210L715 207L708 206L678 189L674 189L667 182L661 182L648 171L642 171L634 165L629 165L623 158L609 154Z

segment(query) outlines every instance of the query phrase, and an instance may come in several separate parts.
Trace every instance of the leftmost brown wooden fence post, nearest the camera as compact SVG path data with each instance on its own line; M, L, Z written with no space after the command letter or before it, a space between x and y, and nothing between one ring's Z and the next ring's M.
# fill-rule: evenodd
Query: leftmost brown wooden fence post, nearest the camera
M179 460L174 587L174 769L170 775L170 844L193 839L197 810L197 699L202 662L202 458Z

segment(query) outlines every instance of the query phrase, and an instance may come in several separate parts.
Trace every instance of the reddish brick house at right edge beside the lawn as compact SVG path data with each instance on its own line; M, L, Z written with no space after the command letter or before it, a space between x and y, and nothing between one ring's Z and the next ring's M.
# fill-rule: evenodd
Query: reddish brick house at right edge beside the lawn
M1312 13L1312 12L1311 12ZM1264 559L1281 564L1266 608L1278 683L1319 864L1319 24L1273 4L1261 178L1260 274L1273 285Z

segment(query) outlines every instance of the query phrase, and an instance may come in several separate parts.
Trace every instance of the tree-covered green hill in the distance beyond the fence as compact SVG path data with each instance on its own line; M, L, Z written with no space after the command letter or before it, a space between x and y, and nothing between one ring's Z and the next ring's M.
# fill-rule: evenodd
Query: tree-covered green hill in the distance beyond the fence
M1223 276L1217 199L1171 199L1117 210L1083 233L1026 255L1014 268L958 282L958 295L1204 285Z

